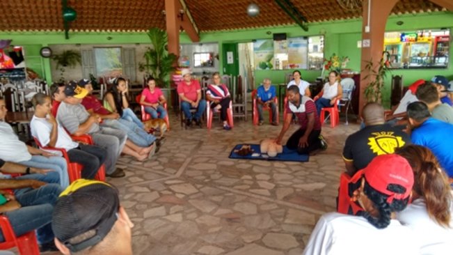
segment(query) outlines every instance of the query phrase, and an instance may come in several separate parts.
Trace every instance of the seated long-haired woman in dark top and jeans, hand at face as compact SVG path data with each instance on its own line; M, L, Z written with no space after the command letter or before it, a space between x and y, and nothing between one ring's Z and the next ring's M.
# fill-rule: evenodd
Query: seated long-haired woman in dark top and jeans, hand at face
M127 81L119 77L115 80L115 83L104 95L104 108L110 112L116 112L120 114L122 119L126 121L132 121L138 127L145 128L145 125L137 118L134 111L129 108L129 102L127 102Z

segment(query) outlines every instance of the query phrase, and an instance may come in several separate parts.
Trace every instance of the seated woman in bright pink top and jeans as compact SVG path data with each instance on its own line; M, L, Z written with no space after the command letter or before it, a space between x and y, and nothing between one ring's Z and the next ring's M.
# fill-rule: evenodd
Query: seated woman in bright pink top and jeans
M145 111L151 115L151 118L160 118L167 116L167 111L164 108L165 100L164 94L160 88L156 87L156 80L154 77L149 77L146 80L148 88L143 89L140 98L140 105L145 106Z

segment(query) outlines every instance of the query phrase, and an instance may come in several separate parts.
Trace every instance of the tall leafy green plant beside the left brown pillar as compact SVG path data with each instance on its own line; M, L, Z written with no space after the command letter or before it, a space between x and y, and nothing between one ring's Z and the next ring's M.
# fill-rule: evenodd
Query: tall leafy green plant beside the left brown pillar
M156 79L157 86L168 87L170 84L169 75L175 71L175 62L177 56L168 53L166 45L168 44L168 35L166 31L158 28L152 28L148 31L148 37L151 40L152 48L148 47L143 57L145 63L139 63L138 67L141 72L145 71Z

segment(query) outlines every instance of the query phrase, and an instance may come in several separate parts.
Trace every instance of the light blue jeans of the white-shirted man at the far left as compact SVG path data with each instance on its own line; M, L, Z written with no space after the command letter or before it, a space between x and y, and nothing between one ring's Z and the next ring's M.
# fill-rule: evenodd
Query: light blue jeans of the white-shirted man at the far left
M65 188L69 186L69 176L67 175L67 162L64 157L44 157L40 155L31 156L31 160L18 162L27 167L36 167L41 169L51 169L56 171L60 176L60 185Z

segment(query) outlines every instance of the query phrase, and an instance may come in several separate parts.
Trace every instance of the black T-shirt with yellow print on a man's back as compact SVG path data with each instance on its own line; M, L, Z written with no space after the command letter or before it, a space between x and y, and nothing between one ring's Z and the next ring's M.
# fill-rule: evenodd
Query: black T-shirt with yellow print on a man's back
M411 137L387 124L371 125L346 139L343 159L352 161L357 170L365 168L374 157L395 153L397 148L411 144Z

